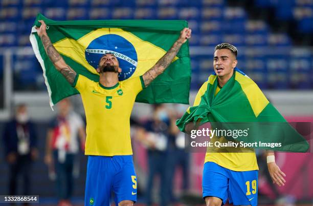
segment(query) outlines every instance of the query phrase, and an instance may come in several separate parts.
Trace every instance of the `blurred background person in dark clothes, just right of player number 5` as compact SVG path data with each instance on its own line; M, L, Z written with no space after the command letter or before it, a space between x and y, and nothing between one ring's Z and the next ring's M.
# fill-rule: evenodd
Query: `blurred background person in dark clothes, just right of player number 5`
M173 125L175 127L175 123ZM171 121L164 105L154 105L152 118L144 123L142 132L138 132L137 139L143 143L148 151L148 179L146 187L147 205L152 205L152 189L154 177L160 176L160 205L166 206L170 198L170 183L168 175L173 161L169 156L169 138Z

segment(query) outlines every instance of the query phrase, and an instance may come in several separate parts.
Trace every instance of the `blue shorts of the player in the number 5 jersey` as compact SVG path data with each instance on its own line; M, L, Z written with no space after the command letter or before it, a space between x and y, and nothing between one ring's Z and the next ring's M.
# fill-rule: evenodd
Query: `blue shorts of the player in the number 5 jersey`
M132 155L89 156L85 206L109 206L111 192L118 205L123 200L137 201L137 177Z

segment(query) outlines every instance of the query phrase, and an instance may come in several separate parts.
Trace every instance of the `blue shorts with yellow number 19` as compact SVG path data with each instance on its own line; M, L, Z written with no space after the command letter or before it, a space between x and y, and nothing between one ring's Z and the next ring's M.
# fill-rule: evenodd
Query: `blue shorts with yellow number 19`
M258 204L258 171L236 172L206 162L202 180L203 198L218 197L225 204L227 199L234 205Z

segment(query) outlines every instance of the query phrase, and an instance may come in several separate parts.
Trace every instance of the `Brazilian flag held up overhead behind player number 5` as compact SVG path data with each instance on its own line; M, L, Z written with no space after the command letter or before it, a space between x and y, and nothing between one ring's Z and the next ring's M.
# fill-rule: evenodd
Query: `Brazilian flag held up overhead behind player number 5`
M122 72L119 80L143 75L171 48L180 31L188 27L185 20L44 20L53 46L78 74L99 81L96 71L104 53L118 57ZM59 100L78 94L49 60L36 29L31 44L42 67L51 107ZM181 47L163 74L140 92L137 102L189 104L191 67L188 43Z

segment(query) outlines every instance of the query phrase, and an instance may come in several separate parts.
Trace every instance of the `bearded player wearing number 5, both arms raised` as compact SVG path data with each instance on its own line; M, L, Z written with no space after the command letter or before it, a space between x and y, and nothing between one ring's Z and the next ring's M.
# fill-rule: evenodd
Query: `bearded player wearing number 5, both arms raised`
M37 28L43 47L55 68L81 94L86 115L85 154L88 157L85 205L109 205L111 191L119 206L133 205L137 199L137 177L130 144L130 113L137 94L170 64L181 46L191 37L184 28L168 52L140 77L119 81L119 61L113 54L99 59L99 82L77 74L54 48L39 20Z

